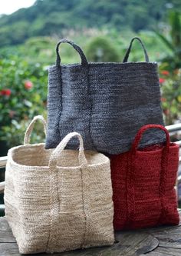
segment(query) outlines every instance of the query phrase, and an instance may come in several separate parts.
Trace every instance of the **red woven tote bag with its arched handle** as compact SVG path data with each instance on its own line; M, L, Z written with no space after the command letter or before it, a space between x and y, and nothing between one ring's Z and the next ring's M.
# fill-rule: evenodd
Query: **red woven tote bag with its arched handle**
M137 149L150 128L166 133L166 145ZM170 143L162 125L144 125L130 151L110 156L115 230L179 224L174 188L178 163L179 145Z

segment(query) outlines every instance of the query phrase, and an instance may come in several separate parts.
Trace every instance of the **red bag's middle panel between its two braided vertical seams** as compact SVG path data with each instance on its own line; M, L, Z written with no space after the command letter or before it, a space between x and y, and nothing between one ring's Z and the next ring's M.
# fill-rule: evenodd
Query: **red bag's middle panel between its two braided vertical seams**
M163 211L160 198L162 149L137 151L133 164L135 212L131 228L149 228L159 224Z

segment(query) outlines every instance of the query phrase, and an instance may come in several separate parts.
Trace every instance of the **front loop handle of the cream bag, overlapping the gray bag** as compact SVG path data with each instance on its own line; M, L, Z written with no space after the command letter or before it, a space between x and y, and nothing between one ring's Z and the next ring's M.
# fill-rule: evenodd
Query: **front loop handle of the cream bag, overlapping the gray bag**
M54 149L54 151L51 154L51 158L49 161L49 167L53 167L55 168L57 166L57 162L58 162L58 157L61 154L61 151L64 150L64 148L66 147L68 141L71 140L71 138L73 137L77 137L80 143L80 147L79 147L79 155L78 155L78 160L79 160L79 164L81 165L81 167L83 166L87 166L87 159L85 158L84 155L84 142L83 139L81 137L81 135L77 132L71 132L69 133L67 136L65 136L63 138L63 140L59 143L59 145L57 146L57 148Z

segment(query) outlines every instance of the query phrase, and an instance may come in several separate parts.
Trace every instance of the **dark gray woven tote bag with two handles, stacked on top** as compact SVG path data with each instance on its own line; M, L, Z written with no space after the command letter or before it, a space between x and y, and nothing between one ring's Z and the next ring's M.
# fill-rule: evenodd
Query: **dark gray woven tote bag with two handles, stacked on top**
M145 62L127 62L135 39L143 48ZM61 43L73 46L81 64L61 65ZM77 131L86 149L120 154L130 149L141 126L163 125L157 64L149 62L140 38L131 40L122 63L88 63L81 48L67 39L58 42L56 52L57 62L48 75L46 148L55 148L67 133ZM140 145L163 140L161 131L152 130ZM77 147L76 140L67 145Z

